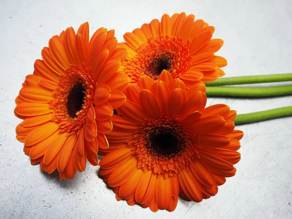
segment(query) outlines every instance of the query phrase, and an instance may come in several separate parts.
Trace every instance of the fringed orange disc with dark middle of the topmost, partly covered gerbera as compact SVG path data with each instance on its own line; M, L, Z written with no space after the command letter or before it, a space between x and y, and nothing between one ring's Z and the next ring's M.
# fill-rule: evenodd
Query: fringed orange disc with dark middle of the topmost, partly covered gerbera
M142 75L157 80L163 70L173 78L180 78L189 66L189 50L183 39L160 36L149 39L148 44L137 50L137 54L128 61L125 72L131 83L137 83Z

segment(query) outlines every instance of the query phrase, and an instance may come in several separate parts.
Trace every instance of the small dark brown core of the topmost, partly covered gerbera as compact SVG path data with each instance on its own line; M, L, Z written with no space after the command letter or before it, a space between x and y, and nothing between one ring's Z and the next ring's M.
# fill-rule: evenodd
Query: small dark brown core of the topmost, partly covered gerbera
M151 60L147 70L153 75L159 76L163 70L169 71L171 69L172 59L167 54L159 55Z

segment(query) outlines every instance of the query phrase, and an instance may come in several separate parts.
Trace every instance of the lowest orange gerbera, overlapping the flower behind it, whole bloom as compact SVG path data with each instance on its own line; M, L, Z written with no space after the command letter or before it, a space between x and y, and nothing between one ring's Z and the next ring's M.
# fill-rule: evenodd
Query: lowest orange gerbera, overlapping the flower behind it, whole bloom
M208 199L235 175L243 136L234 130L236 111L223 104L205 108L204 85L186 91L183 81L163 71L156 82L142 76L125 93L118 109L123 117L112 117L110 147L99 163L117 200L173 211L179 196Z

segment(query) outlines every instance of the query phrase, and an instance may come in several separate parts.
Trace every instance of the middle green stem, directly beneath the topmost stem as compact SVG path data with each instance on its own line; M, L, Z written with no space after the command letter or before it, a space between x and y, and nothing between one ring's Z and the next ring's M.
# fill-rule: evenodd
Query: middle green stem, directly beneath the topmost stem
M207 96L265 97L292 94L292 85L265 88L206 87Z

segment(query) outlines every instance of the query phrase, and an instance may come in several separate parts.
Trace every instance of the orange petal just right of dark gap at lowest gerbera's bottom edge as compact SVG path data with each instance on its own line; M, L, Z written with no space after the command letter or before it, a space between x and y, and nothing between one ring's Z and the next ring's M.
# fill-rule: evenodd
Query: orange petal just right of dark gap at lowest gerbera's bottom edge
M200 202L202 201L202 193L198 188L197 183L195 183L194 179L187 172L187 170L183 169L179 174L180 185L183 189L185 195L192 201Z

